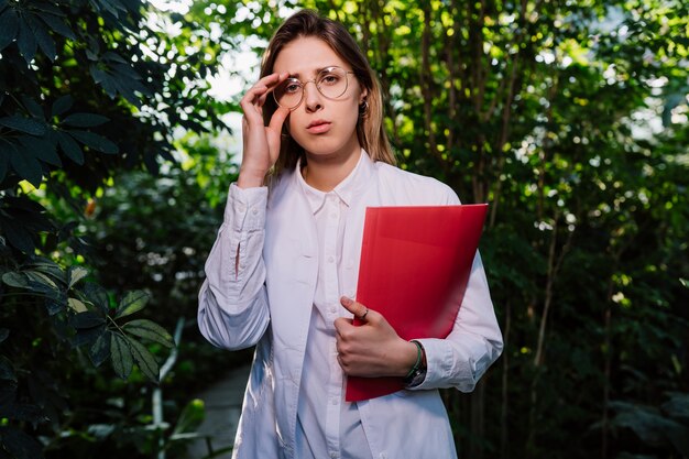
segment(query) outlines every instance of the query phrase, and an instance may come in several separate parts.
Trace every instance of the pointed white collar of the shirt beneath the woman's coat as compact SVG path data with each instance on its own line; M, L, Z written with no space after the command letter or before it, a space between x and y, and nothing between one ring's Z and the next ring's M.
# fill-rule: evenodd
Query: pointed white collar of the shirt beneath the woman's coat
M359 162L349 173L347 177L342 182L340 182L332 192L325 193L319 189L314 188L309 184L306 183L304 177L302 176L302 160L297 162L296 165L296 176L299 182L300 188L308 200L308 204L311 208L311 211L316 214L322 207L326 201L326 197L328 195L335 194L337 195L342 203L344 203L348 207L351 206L352 201L361 195L362 190L365 187L367 178L371 173L371 167L373 162L369 157L369 154L361 149L361 156L359 157Z

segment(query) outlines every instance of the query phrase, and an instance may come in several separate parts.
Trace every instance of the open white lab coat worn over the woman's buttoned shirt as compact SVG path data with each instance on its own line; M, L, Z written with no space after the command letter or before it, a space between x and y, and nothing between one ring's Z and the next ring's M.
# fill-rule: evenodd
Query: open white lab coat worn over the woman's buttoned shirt
M342 256L343 295L356 297L364 211L370 206L452 205L440 182L362 164L367 189L349 210ZM318 272L316 226L296 172L267 189L230 187L225 221L206 264L198 325L215 346L256 346L237 433L237 459L294 457L297 398ZM266 205L267 203L267 205ZM239 256L238 256L239 251ZM472 391L502 351L480 256L473 263L455 327L446 339L422 339L428 371L413 390L359 402L374 458L456 458L438 387Z

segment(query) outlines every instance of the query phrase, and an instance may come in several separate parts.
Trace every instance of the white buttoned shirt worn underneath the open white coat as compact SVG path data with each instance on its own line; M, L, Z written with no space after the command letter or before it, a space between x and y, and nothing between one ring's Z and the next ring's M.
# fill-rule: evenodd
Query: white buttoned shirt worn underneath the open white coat
M318 234L318 281L306 341L302 386L297 407L296 457L300 459L370 459L371 450L356 403L344 402L344 378L337 361L335 319L350 314L340 305L346 275L342 242L352 200L360 198L363 184L362 153L354 170L333 190L320 192L297 179L314 212ZM297 165L297 171L299 171Z

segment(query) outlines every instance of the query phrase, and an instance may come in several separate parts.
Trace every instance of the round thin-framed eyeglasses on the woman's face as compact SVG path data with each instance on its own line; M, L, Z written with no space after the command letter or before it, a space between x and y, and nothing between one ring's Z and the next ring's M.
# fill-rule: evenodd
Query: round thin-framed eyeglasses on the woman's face
M347 87L349 86L348 74L353 74L353 72L347 72L340 67L327 67L320 70L316 78L304 83L297 78L287 78L273 90L273 98L280 107L294 110L304 100L306 84L313 81L318 92L324 97L337 99L347 92Z

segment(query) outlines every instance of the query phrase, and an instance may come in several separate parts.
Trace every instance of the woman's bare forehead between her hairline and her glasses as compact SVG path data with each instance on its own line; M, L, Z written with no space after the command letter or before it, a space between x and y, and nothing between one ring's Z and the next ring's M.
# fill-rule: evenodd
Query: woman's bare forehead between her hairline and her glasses
M273 72L288 72L297 78L313 77L326 67L350 69L329 44L314 36L298 37L287 43L275 58Z

